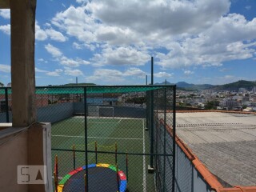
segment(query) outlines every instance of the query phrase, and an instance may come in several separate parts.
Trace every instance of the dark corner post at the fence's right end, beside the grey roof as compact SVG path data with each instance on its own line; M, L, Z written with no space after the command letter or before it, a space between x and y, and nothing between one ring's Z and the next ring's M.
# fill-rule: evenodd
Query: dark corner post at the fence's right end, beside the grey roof
M174 85L173 95L173 192L175 191L175 164L176 164L176 85Z

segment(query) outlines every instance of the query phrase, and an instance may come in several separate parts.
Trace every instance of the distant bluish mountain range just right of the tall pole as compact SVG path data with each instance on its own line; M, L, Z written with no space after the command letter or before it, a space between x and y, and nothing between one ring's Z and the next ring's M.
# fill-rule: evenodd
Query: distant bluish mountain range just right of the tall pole
M202 85L195 85L192 83L187 82L177 82L177 83L170 83L170 82L161 82L161 83L155 83L156 85L174 85L176 84L178 88L182 88L182 90L206 90L213 87L213 85L210 84L202 84Z

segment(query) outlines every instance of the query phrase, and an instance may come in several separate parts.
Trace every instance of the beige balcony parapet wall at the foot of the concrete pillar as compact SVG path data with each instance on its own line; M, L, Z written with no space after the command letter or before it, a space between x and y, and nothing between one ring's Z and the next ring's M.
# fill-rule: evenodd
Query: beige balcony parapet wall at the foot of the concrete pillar
M0 191L52 191L50 124L0 130ZM46 185L18 185L17 166L45 165Z

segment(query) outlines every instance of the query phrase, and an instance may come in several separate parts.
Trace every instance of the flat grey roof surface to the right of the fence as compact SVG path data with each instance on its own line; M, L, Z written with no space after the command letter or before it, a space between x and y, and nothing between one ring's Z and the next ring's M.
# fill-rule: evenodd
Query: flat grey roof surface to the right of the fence
M177 134L223 186L256 185L256 115L177 113Z

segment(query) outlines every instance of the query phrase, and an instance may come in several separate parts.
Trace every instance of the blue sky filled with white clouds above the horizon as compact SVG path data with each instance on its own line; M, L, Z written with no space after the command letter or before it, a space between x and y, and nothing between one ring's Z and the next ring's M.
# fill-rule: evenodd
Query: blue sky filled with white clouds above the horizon
M36 10L37 86L256 80L254 0L44 0ZM0 82L10 82L10 10L0 10Z

